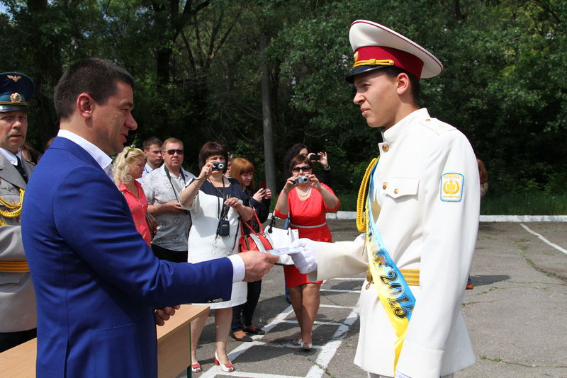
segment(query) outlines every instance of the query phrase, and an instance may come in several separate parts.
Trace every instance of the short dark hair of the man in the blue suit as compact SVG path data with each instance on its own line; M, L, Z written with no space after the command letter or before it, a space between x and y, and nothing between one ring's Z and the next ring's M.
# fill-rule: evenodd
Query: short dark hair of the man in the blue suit
M99 58L81 59L65 71L55 87L53 102L60 120L67 120L74 112L75 101L81 93L87 93L96 103L104 105L116 93L116 82L135 86L128 71Z

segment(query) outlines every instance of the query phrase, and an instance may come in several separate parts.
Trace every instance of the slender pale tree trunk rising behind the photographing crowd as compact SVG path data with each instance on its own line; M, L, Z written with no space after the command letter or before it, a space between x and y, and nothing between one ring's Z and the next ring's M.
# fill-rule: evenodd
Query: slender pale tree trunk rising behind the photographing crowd
M274 132L271 120L271 96L269 65L266 61L266 37L260 38L260 56L262 57L262 122L264 125L264 166L266 170L266 188L276 193L276 160L274 159Z

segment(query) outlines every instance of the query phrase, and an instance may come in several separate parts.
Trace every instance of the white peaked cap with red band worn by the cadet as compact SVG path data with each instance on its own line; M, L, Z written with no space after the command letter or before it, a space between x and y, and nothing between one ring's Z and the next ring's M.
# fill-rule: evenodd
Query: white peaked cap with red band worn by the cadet
M349 83L357 74L388 66L404 69L417 79L429 79L443 70L443 64L431 52L379 23L354 21L349 39L354 51L352 70L344 78Z

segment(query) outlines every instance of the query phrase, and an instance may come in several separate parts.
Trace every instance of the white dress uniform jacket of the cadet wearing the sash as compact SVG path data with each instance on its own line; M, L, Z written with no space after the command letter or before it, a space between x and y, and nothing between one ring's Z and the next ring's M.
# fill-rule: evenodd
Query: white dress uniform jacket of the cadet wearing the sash
M385 130L383 140L371 193L378 219L371 222L398 268L420 270L420 286L410 287L416 302L397 370L439 378L475 362L460 309L478 231L476 157L464 134L430 118L425 108ZM318 280L366 271L364 234L350 242L317 243L317 251ZM397 337L376 288L366 284L354 362L393 377Z

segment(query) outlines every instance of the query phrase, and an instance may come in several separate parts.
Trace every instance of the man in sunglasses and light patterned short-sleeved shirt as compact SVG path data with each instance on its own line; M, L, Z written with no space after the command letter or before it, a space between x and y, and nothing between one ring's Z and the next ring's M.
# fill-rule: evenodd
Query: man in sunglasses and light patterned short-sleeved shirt
M185 171L183 142L176 138L162 144L164 164L148 173L142 187L147 198L147 211L157 219L157 234L152 240L152 251L157 258L185 263L187 238L191 228L191 214L179 204L179 192L195 176Z

